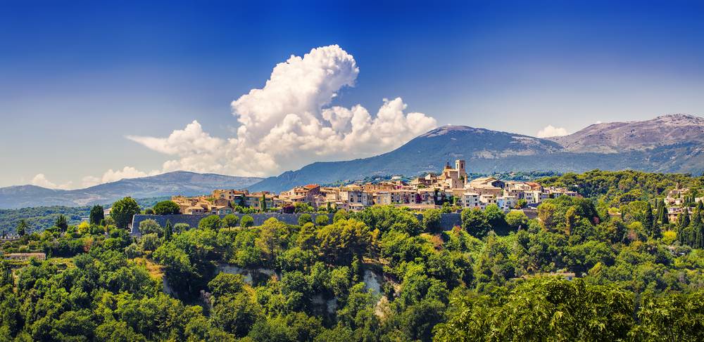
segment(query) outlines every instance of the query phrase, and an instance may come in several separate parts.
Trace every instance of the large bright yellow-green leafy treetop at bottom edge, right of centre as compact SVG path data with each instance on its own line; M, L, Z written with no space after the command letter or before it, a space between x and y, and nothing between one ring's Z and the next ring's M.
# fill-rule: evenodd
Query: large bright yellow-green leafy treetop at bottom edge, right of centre
M539 277L501 298L461 296L435 341L624 341L634 326L632 294L581 280Z

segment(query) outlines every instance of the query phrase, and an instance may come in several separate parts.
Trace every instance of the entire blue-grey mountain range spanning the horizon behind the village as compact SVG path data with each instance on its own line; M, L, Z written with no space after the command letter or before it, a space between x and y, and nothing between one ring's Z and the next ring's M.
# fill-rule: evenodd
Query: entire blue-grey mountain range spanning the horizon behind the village
M704 118L669 114L646 121L600 123L553 138L441 126L375 157L315 162L265 179L177 171L81 190L21 185L0 188L0 208L104 204L125 196L203 195L215 188L281 192L296 185L367 176L417 176L441 171L455 159L465 159L470 173L636 169L700 174L704 171Z

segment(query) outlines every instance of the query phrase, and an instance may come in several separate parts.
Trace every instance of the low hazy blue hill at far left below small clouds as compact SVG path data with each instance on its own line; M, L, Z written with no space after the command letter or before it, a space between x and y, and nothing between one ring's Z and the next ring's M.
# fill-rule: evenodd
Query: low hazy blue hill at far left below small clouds
M28 206L86 206L134 198L204 195L216 188L247 188L261 178L175 171L158 176L122 179L80 190L53 190L34 185L0 188L0 209Z

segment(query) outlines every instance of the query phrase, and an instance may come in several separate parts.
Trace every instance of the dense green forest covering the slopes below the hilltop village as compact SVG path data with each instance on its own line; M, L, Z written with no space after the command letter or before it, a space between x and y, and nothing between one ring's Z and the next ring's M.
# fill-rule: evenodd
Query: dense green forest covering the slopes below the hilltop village
M538 218L372 206L332 221L110 220L5 242L1 341L701 341L704 205L662 216L700 178L591 171L543 178L581 197ZM639 195L635 195L635 191ZM631 195L626 195L626 194ZM302 216L305 217L305 216Z

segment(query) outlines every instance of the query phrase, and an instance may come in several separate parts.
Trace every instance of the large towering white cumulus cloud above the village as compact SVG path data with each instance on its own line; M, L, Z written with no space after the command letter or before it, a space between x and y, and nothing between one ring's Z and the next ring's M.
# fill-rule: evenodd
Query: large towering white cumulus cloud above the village
M384 99L375 115L365 107L330 106L359 74L353 56L337 45L291 55L263 88L232 102L239 122L230 138L210 136L198 121L165 138L127 136L174 156L163 171L190 170L267 176L325 159L386 152L437 126L425 114L406 113L401 98Z

